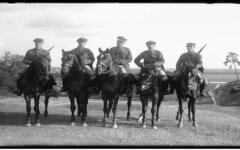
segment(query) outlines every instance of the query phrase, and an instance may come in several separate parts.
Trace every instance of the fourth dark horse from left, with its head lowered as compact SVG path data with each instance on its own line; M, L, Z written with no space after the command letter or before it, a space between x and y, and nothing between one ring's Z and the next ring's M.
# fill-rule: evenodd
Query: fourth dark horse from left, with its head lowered
M142 128L146 128L146 112L148 100L152 100L152 129L156 130L155 114L159 97L158 77L150 72L149 68L143 68L140 72L140 100L142 103Z

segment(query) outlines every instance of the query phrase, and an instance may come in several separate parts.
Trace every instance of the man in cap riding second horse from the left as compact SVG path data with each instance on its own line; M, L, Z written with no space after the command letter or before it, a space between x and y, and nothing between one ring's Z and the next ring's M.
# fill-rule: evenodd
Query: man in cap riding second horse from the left
M82 68L83 71L85 71L90 77L90 80L91 80L90 91L92 93L96 93L96 88L97 88L95 86L96 75L92 66L93 62L95 61L94 55L90 49L85 48L87 44L86 38L83 38L83 37L79 38L77 40L77 43L78 43L78 47L71 50L71 52L76 55L80 68ZM65 91L64 85L63 85L62 91Z

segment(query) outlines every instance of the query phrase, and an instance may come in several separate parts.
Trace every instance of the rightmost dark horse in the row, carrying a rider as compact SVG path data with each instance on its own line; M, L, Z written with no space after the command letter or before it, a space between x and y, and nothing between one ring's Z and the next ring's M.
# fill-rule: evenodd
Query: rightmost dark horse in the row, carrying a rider
M196 104L196 97L197 97L197 72L194 69L194 67L190 65L185 65L185 71L182 72L180 78L178 81L176 81L174 84L179 108L177 111L176 120L179 120L178 127L183 127L183 101L186 101L187 98L189 98L188 101L188 119L189 121L193 121L193 126L197 127L196 119L195 119L195 104ZM191 118L192 113L192 118Z

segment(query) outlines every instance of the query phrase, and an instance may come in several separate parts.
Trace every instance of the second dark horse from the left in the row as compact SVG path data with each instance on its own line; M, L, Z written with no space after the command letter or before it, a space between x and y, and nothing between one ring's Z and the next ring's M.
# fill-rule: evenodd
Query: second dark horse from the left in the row
M78 104L78 114L81 116L81 123L83 127L87 127L87 104L89 98L89 84L90 78L80 67L79 61L75 54L71 51L62 50L62 70L63 86L68 92L68 97L71 102L71 125L75 125L75 98Z

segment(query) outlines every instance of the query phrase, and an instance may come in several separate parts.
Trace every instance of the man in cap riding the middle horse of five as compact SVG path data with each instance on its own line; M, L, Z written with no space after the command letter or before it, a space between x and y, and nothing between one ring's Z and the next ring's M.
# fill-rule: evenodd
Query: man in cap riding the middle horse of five
M110 49L110 53L113 59L113 63L116 66L118 73L122 74L124 77L129 79L129 63L132 61L132 53L129 48L124 47L127 39L123 36L117 37L117 46ZM127 95L131 95L133 92L133 87L130 86L130 81L128 81Z

